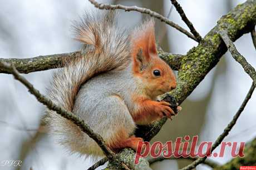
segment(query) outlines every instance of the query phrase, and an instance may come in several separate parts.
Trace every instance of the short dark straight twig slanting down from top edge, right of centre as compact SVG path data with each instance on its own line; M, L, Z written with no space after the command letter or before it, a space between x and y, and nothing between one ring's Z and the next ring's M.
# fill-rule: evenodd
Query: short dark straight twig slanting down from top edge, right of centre
M184 13L183 9L181 8L180 4L176 0L171 0L171 3L176 8L176 11L180 14L181 19L188 25L190 32L194 35L197 42L200 42L202 40L200 34L195 30L193 24L189 21L189 19L186 17L186 14Z

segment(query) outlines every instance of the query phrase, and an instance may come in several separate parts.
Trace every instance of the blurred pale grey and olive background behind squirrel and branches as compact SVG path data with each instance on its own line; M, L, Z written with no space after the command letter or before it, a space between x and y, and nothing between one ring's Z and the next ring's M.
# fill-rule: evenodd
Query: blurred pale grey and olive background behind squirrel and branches
M187 28L169 0L159 1L100 1L126 6L150 8ZM180 0L186 16L204 37L216 21L230 9L244 1L239 0ZM30 58L38 55L76 51L81 45L73 40L72 20L82 16L85 10L94 8L86 0L1 0L0 1L0 58ZM170 11L171 9L171 11ZM147 16L137 12L120 11L120 24L134 28ZM189 29L188 29L189 30ZM170 53L186 54L197 43L174 28L156 20L157 41ZM235 42L248 62L256 65L255 49L250 34ZM46 94L51 79L51 70L25 75L26 78ZM215 141L232 119L242 103L252 80L229 53L210 71L202 83L186 99L183 110L173 121L168 121L152 140L175 141L176 137L199 135L200 141ZM256 137L256 96L253 95L237 124L224 141L247 142ZM56 145L52 138L38 130L45 107L13 76L0 74L0 161L22 160L22 167L0 167L0 169L86 169L93 162L69 155ZM211 158L219 163L231 159L230 150L223 158ZM217 148L216 150L219 150ZM178 169L189 161L155 163L154 169ZM209 168L199 165L196 169Z

